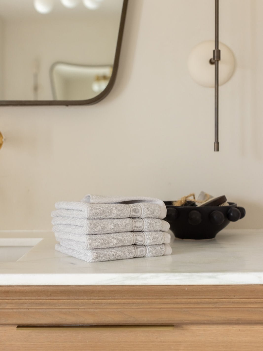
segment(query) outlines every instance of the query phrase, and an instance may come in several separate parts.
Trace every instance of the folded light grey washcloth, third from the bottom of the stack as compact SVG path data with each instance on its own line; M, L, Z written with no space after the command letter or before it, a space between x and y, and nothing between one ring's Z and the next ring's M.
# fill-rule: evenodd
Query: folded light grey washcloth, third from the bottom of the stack
M68 234L107 234L169 230L169 223L158 218L79 219L53 217L53 232Z

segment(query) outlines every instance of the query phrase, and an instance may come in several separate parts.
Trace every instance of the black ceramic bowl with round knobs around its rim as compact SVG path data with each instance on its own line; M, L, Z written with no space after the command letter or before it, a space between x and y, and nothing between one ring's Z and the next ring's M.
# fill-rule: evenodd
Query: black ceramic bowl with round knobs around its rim
M245 217L245 209L229 202L229 206L173 206L164 201L170 230L180 239L212 239L230 222Z

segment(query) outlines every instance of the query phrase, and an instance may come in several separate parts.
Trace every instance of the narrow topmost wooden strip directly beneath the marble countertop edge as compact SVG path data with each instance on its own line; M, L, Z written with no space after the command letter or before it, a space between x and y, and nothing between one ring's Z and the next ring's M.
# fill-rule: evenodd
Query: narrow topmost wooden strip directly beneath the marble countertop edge
M263 285L0 286L0 299L262 298Z

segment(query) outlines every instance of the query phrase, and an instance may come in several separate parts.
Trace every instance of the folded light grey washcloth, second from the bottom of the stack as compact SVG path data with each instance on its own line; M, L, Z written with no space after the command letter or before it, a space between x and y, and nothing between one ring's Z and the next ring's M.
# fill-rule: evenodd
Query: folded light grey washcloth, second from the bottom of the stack
M55 233L61 245L75 249L100 249L127 245L169 244L171 236L165 232L123 232L110 234L75 235Z

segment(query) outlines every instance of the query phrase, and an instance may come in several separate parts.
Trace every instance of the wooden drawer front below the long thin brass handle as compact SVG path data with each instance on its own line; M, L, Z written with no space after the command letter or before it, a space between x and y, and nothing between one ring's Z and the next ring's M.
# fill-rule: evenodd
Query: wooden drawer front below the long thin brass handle
M262 325L180 325L144 328L0 328L5 351L23 350L246 350L262 351Z

